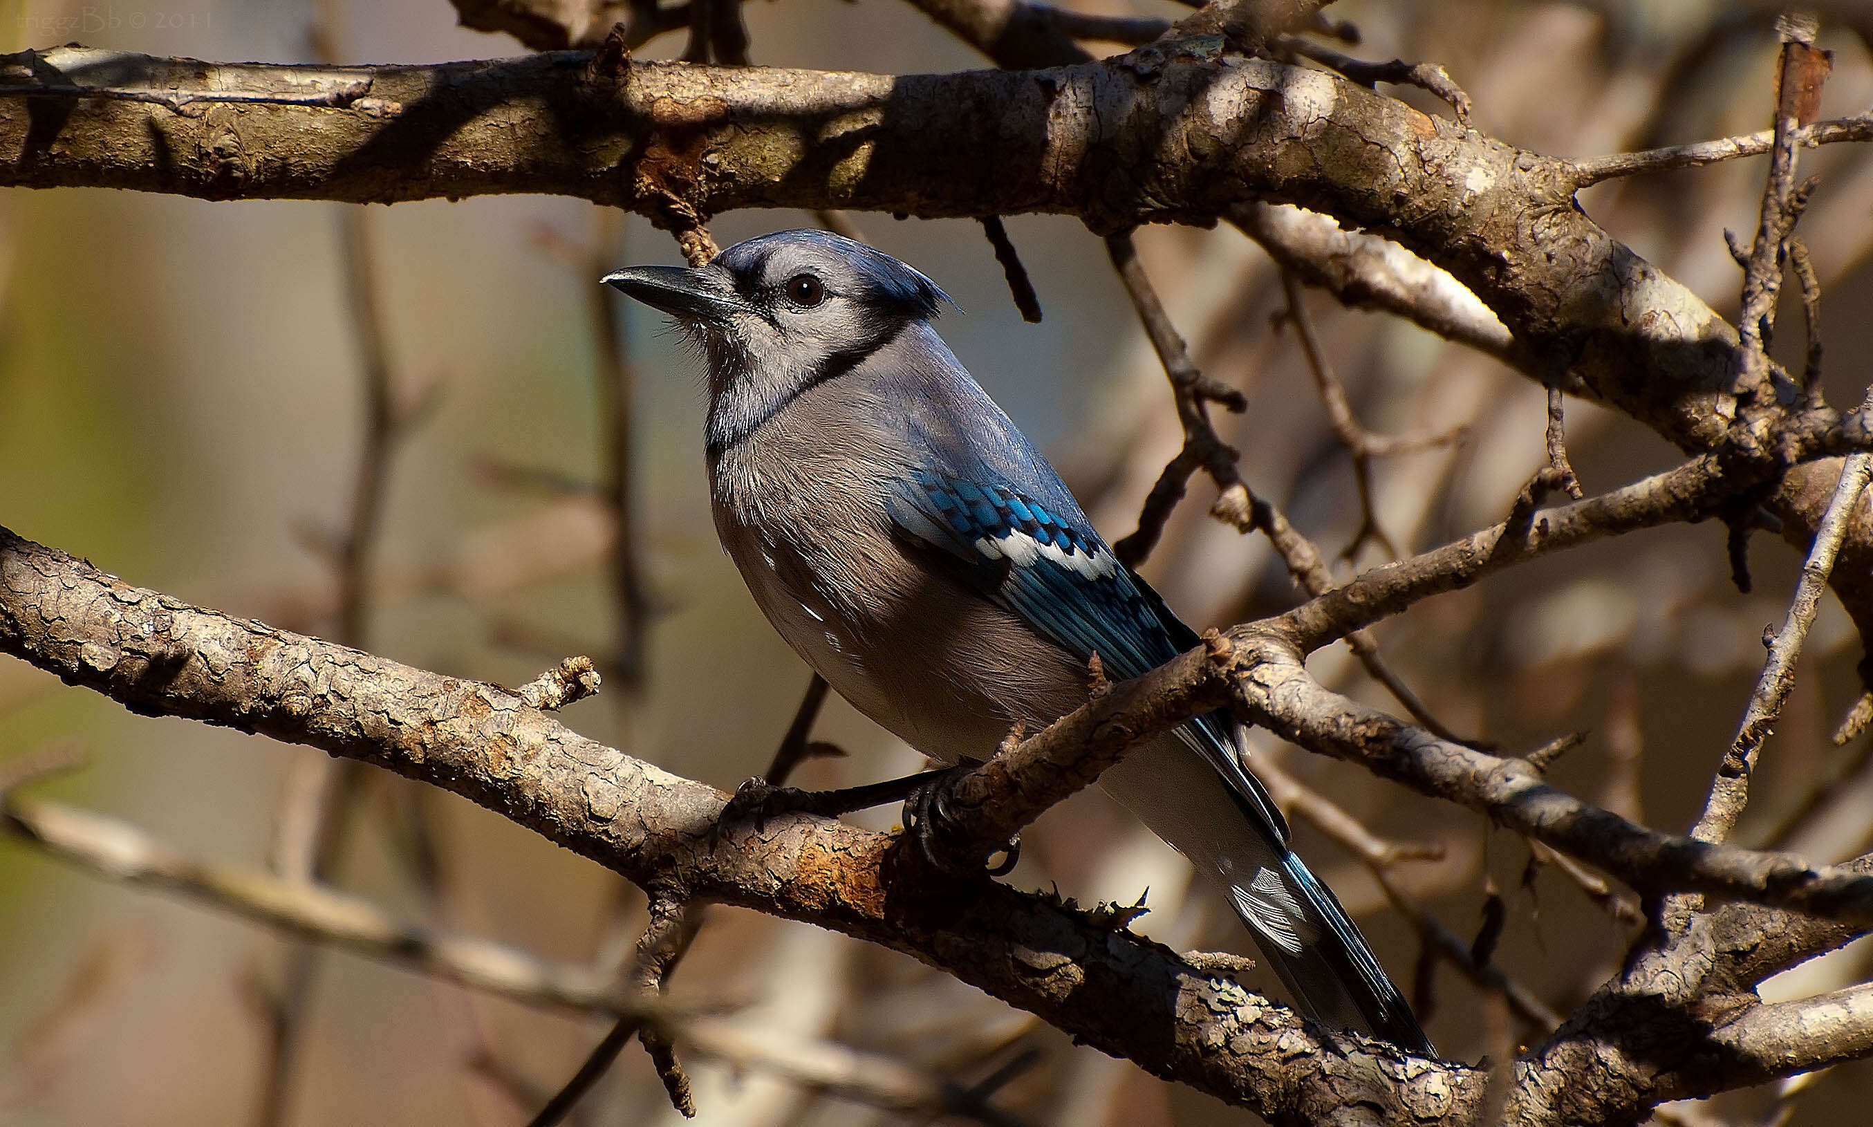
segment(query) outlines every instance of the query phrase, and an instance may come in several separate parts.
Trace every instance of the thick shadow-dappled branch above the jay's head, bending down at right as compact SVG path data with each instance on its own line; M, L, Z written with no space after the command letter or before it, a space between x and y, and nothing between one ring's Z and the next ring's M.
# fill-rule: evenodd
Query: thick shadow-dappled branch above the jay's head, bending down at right
M730 208L1058 212L1094 230L1292 202L1442 266L1508 328L1523 371L1577 380L1686 451L1714 447L1777 397L1733 386L1736 331L1573 204L1568 161L1206 39L1043 71L907 77L605 52L294 67L52 49L7 56L0 80L283 99L178 112L0 97L0 185L358 202L524 191L665 221ZM345 105L303 105L360 82L367 94ZM1791 543L1813 535L1836 477L1826 462L1796 468L1770 500ZM1836 590L1864 629L1867 577L1862 520Z

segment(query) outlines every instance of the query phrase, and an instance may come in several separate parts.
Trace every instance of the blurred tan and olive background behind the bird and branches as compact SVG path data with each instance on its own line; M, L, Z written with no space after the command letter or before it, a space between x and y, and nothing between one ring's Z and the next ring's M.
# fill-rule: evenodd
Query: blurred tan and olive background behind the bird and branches
M1122 0L1088 11L1176 15ZM1476 99L1474 124L1560 155L1721 137L1768 124L1772 9L1708 0L1345 0L1362 58L1435 60ZM762 0L745 6L760 64L871 71L981 66L965 45L895 0ZM7 0L7 51L79 39L212 60L313 58L324 19L345 62L440 62L517 54L511 39L461 30L442 0ZM1858 24L1856 24L1858 21ZM1873 9L1822 9L1836 52L1824 116L1873 101ZM641 56L682 51L682 36ZM1397 92L1446 112L1418 92ZM1802 225L1822 277L1828 388L1852 402L1873 343L1873 152L1804 157L1824 172ZM1753 230L1762 161L1590 189L1583 206L1618 238L1734 313L1738 270L1723 228ZM363 432L360 346L347 313L339 204L206 204L116 191L0 193L0 522L189 601L332 633L328 547L347 519ZM1178 432L1161 369L1144 344L1101 242L1060 217L1008 227L1045 320L1023 324L974 223L856 215L865 236L953 294L942 329L955 352L1058 462L1109 539L1137 507ZM721 215L727 245L802 213ZM579 200L509 197L369 208L378 316L393 382L425 410L397 447L371 577L371 650L515 685L568 653L616 648L607 511L564 483L603 474L596 417L586 255L611 264L676 262L639 219ZM1240 232L1152 228L1144 262L1206 373L1242 388L1227 417L1246 479L1328 552L1358 528L1352 468L1313 391L1283 309L1279 275ZM566 249L577 249L568 255ZM672 771L732 788L777 743L805 666L760 620L715 547L701 459L695 365L654 316L618 315L637 376L637 537L654 620L642 687L614 681L573 706L575 728ZM1384 459L1377 513L1399 550L1498 520L1541 464L1541 391L1498 363L1394 318L1307 296L1326 352L1364 423L1379 432L1467 427L1446 447ZM1779 350L1802 346L1783 311ZM1570 406L1575 468L1588 490L1674 462L1643 427ZM1195 625L1242 622L1294 601L1257 537L1204 517L1197 481L1144 569ZM1367 545L1356 564L1382 552ZM1530 749L1588 739L1555 769L1585 798L1684 829L1729 743L1779 622L1794 554L1759 535L1757 586L1729 582L1723 530L1676 526L1541 560L1482 588L1422 605L1382 627L1395 668L1459 732ZM1341 575L1352 564L1337 562ZM1815 859L1854 856L1873 837L1867 739L1828 734L1858 695L1858 640L1822 608L1789 711L1766 753L1740 839L1783 841ZM1319 676L1392 706L1339 650ZM807 784L850 784L918 758L841 702L819 734L845 760L809 764ZM0 659L0 756L71 743L86 769L37 794L146 827L184 854L266 863L275 811L300 749L118 706ZM1478 816L1272 739L1261 754L1332 794L1375 829L1437 842L1440 861L1399 869L1452 929L1474 932L1485 887L1508 897L1498 962L1566 1011L1616 964L1628 930L1573 884L1543 871L1523 887L1526 846ZM333 880L405 915L435 919L412 876L410 805L433 827L440 923L564 960L614 957L642 927L642 899L618 878L494 814L440 792L363 786ZM1819 803L1800 827L1783 826ZM869 816L890 826L895 811ZM1298 826L1304 852L1360 915L1394 977L1408 981L1416 938L1349 856ZM1246 936L1186 865L1099 794L1051 812L1010 878L1081 902L1131 902L1135 929L1180 949L1247 949ZM262 1067L253 1002L290 944L161 893L127 889L0 841L0 1123L249 1123ZM528 1009L436 985L347 953L318 957L307 1050L292 1078L292 1125L519 1123L599 1037L599 1018ZM1864 977L1856 947L1772 983L1779 996ZM1036 1026L1021 1013L908 959L804 925L712 910L676 987L730 996L749 1020L847 1041L957 1080L978 1080L1023 1048L1040 1063L1000 1097L1032 1123L1246 1123L1253 1116L1161 1084ZM1480 998L1453 972L1435 979L1427 1028L1457 1058L1485 1052ZM489 1065L493 1060L493 1065ZM479 1061L479 1063L476 1063ZM805 1091L760 1071L693 1061L706 1123L888 1123L892 1116ZM1821 1078L1798 1101L1742 1093L1678 1121L1792 1114L1858 1121L1873 1097L1866 1065ZM586 1108L588 1123L672 1121L642 1056L627 1050Z

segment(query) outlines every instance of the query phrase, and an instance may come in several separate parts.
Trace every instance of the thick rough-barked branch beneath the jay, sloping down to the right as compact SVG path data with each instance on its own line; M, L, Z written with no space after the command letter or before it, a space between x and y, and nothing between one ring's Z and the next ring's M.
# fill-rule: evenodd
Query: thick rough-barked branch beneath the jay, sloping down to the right
M1401 1073L1382 1045L1328 1048L1290 1011L1041 897L985 880L948 893L901 887L888 837L805 816L715 837L719 790L581 738L502 689L189 607L7 532L0 650L137 711L436 783L641 886L905 951L1277 1123L1332 1123L1362 1105L1457 1114L1472 1095L1461 1065ZM1180 663L1159 678L1189 672Z

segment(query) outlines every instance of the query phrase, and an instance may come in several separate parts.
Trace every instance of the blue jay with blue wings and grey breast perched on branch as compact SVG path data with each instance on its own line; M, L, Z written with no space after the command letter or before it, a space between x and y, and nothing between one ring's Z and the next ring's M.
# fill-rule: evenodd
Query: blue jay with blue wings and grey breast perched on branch
M1197 644L942 343L948 296L910 266L783 230L605 283L671 315L708 361L715 530L760 610L910 747L985 758L1013 724L1081 706L1094 653L1135 678ZM1315 1018L1431 1052L1289 848L1244 739L1227 711L1202 715L1101 784L1219 882Z

